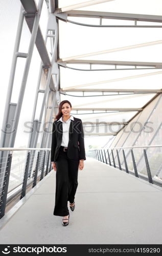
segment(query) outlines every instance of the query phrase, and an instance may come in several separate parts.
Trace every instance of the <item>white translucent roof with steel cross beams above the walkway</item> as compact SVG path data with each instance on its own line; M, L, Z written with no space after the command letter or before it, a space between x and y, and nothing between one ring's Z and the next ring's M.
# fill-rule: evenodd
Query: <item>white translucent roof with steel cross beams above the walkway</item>
M86 136L117 135L162 92L161 3L56 2L60 99Z

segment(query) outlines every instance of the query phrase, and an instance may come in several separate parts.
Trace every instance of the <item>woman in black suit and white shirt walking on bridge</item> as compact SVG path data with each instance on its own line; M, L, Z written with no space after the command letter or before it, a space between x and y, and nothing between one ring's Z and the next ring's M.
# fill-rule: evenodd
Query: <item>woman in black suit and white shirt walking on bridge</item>
M85 148L82 121L71 116L72 104L63 100L53 122L51 162L56 171L56 194L54 215L62 216L62 225L69 223L67 201L75 209L78 186L78 167L84 167Z

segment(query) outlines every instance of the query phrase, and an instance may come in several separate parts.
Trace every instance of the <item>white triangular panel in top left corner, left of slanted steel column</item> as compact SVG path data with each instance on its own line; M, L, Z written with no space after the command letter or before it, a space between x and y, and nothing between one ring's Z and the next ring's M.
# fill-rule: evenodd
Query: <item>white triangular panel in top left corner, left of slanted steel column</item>
M8 83L10 78L10 70L12 65L14 42L15 42L17 26L18 26L20 5L21 4L19 0L15 0L14 5L12 0L0 1L0 9L1 9L0 11L0 30L1 30L1 33L0 33L0 45L1 45L0 127L2 127L3 116L5 111L5 103L6 103L7 89L8 89Z

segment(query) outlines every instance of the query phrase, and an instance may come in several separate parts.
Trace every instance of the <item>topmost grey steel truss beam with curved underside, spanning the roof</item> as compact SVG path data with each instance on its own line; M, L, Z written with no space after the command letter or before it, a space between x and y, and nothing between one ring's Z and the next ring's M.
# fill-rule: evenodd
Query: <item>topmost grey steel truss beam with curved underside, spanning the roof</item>
M80 10L64 10L62 13L55 13L56 17L63 20L64 22L71 22L77 25L93 26L93 27L149 27L161 28L161 25L137 25L138 22L155 22L162 23L162 16L159 15L144 15L144 14L131 14L131 13L116 13L116 12L97 12L97 11L80 11ZM83 17L83 18L98 18L100 25L90 25L77 23L72 20L68 20L67 17ZM134 25L102 25L102 19L120 19L120 20L133 20Z

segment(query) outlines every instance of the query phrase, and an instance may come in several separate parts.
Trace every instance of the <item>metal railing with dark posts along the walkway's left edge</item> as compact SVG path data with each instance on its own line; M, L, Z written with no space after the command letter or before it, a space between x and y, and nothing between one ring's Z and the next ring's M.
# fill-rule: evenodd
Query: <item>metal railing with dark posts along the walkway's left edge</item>
M51 148L0 148L0 219L6 206L36 186L52 170Z

